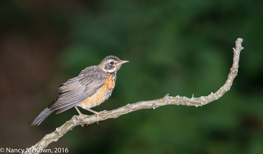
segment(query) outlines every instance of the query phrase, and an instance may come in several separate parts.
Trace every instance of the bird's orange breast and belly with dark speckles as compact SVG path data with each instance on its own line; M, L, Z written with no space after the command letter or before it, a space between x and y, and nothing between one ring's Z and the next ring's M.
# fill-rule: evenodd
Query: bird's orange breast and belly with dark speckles
M94 106L100 105L112 94L112 91L115 87L115 81L116 74L108 73L108 78L105 80L104 85L99 88L94 95L80 102L77 106L82 108L92 108Z

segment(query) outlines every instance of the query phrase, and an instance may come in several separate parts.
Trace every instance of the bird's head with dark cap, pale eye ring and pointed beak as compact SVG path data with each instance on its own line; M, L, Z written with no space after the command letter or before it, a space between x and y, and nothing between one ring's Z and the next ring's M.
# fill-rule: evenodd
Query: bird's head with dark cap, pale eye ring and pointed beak
M98 65L103 71L108 73L116 73L122 64L129 62L127 60L120 60L116 56L107 56Z

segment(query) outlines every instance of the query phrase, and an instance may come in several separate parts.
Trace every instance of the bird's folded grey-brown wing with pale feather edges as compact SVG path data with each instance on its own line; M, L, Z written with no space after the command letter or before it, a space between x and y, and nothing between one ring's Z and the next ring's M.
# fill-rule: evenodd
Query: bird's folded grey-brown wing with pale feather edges
M52 111L60 109L57 113L68 110L94 95L106 79L105 72L94 66L87 67L78 76L60 85L58 97L48 108Z

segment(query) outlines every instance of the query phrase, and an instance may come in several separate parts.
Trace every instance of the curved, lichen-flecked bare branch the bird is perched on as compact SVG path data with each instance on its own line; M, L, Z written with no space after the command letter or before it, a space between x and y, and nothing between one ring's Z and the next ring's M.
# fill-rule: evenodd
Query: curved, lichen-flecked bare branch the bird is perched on
M232 83L234 78L237 76L237 68L238 68L238 62L239 62L239 55L240 51L244 49L241 47L243 39L238 38L236 40L236 48L233 48L234 50L234 58L233 58L233 65L230 69L230 73L227 77L226 83L216 92L211 93L208 96L201 96L199 98L195 98L194 95L192 98L187 97L171 97L168 96L169 94L165 95L163 98L156 99L156 100L150 100L150 101L141 101L134 104L127 104L123 107L119 107L118 109L104 112L100 114L99 121L106 120L109 118L117 118L120 115L124 115L126 113L140 110L140 109L149 109L149 108L157 108L163 105L169 105L169 104L175 104L175 105L187 105L187 106L202 106L205 104L208 104L211 101L219 99L225 92L227 92ZM78 116L73 116L69 121L64 123L62 126L56 128L56 130L50 134L47 134L44 136L43 139L41 139L36 145L32 146L31 149L44 149L47 147L51 142L57 141L60 137L62 137L65 133L67 133L69 130L71 130L73 127L78 125L84 125L84 124L91 124L97 121L97 116L91 115L91 116L81 116L80 119L77 119ZM28 152L24 152L28 153Z

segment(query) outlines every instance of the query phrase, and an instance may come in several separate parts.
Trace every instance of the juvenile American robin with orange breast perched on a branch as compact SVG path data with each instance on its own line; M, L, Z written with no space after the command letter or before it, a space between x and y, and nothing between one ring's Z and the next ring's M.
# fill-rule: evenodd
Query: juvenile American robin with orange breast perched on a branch
M129 61L120 60L116 56L107 56L99 65L86 67L78 76L59 86L58 97L34 119L31 125L39 125L54 110L59 109L56 112L58 114L72 107L78 111L78 119L85 116L78 109L82 107L95 113L98 123L99 114L107 110L96 112L90 108L100 105L109 98L115 86L116 73L126 62Z

